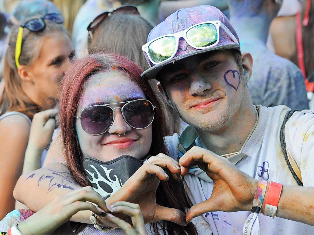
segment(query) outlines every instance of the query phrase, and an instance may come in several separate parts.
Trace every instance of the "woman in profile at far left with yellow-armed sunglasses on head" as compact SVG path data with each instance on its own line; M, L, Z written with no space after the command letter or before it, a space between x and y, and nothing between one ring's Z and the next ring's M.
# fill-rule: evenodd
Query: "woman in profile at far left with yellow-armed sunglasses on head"
M13 27L8 36L5 88L0 101L0 218L14 208L12 192L22 172L31 120L37 112L54 108L60 79L70 64L68 56L73 47L61 23L59 14L46 14L26 21L21 27ZM46 135L51 136L55 124L49 119L56 111L45 112L40 121L42 126L47 125ZM37 140L43 136L34 137L33 147L40 152L42 146L38 146Z

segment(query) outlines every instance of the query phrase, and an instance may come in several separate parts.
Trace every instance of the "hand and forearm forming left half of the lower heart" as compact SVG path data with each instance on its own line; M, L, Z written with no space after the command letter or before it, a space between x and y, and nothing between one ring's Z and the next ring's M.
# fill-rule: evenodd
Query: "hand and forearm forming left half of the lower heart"
M96 203L98 207L90 202ZM20 223L18 228L23 235L49 235L68 222L78 211L85 210L103 216L102 218L105 216L105 211L108 211L105 200L90 186L56 197L40 211ZM62 227L68 231L67 224ZM65 234L75 234L71 232Z

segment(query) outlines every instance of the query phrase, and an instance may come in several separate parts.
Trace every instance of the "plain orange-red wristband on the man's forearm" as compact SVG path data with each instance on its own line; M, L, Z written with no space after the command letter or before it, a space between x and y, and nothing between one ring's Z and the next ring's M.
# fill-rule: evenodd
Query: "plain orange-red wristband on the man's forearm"
M282 184L270 181L268 191L265 196L263 213L265 216L271 216L273 218L276 216L281 190Z

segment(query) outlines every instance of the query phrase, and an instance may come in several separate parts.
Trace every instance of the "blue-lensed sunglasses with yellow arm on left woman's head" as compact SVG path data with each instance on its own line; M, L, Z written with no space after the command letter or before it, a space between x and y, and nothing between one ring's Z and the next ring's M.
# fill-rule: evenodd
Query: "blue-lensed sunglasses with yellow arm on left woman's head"
M17 68L20 67L19 57L21 55L22 50L23 29L26 28L31 32L38 32L46 27L44 19L50 20L57 24L63 23L62 16L59 13L49 13L39 18L30 19L25 23L21 24L19 27L19 32L15 45L15 64Z

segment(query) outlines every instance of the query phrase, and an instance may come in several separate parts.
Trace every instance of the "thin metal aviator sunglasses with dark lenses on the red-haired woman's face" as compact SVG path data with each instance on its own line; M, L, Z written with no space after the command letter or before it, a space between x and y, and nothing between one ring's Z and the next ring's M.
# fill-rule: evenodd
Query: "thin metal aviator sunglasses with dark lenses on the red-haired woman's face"
M108 105L124 104L121 107L111 108ZM152 124L155 116L154 106L147 99L136 99L132 101L92 105L84 108L80 116L74 116L81 120L81 126L85 132L97 136L105 133L114 121L114 110L121 109L123 119L135 129L144 129Z

